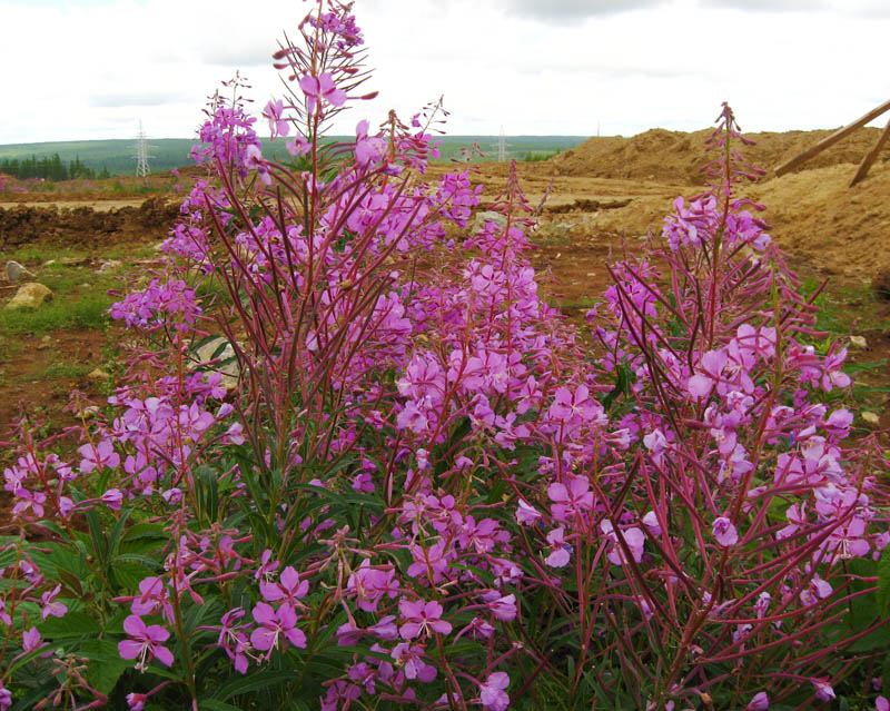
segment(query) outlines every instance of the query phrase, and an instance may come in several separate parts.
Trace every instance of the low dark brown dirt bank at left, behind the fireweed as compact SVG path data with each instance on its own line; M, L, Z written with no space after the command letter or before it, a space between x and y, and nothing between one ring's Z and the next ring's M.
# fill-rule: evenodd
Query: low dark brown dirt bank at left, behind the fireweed
M150 197L139 207L93 210L14 206L0 208L0 249L37 240L95 246L135 239L161 239L179 217L177 203Z

